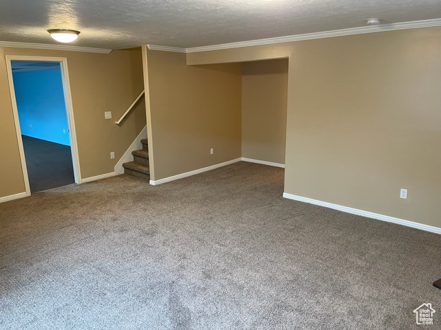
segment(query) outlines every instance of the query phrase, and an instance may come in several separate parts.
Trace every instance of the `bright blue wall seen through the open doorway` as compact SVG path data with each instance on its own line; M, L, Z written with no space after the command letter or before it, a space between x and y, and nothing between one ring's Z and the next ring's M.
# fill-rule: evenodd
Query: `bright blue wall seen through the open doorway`
M61 70L14 72L12 76L21 134L69 146Z

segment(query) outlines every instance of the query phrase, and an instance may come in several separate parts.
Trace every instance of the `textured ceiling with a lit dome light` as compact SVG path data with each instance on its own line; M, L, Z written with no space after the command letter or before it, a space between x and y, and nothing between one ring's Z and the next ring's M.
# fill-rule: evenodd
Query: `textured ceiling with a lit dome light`
M0 41L53 43L46 30L81 31L72 45L200 47L382 23L441 18L441 0L1 0Z

